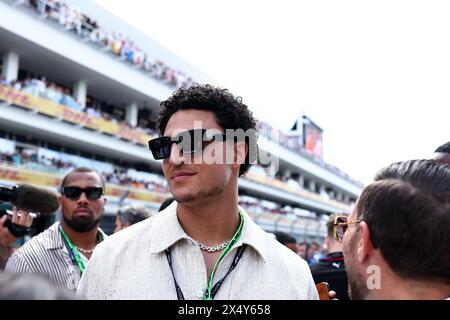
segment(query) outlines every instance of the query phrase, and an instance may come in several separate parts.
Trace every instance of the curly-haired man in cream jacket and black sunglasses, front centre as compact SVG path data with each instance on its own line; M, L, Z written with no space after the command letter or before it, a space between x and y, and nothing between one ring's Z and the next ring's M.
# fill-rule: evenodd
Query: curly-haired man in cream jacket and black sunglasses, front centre
M161 137L149 147L175 201L99 246L78 291L88 299L317 299L307 263L238 206L238 178L257 150L247 106L209 85L181 88L161 106Z

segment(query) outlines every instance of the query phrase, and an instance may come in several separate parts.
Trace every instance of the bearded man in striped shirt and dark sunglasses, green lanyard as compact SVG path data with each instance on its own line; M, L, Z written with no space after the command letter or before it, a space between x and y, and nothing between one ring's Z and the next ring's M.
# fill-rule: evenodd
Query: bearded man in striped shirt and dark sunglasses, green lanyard
M61 182L62 219L17 250L6 271L33 273L75 290L85 266L106 235L99 229L105 180L89 168L77 168Z

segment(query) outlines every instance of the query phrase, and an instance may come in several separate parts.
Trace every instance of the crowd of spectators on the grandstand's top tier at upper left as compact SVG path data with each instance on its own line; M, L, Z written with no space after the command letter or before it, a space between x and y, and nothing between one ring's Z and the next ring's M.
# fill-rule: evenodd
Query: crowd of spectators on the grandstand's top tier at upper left
M58 23L84 41L111 51L120 59L140 68L150 75L177 87L190 86L191 77L175 70L163 61L153 58L128 36L104 28L96 19L82 12L81 8L60 0L11 0L14 5L23 5L35 10L40 17Z

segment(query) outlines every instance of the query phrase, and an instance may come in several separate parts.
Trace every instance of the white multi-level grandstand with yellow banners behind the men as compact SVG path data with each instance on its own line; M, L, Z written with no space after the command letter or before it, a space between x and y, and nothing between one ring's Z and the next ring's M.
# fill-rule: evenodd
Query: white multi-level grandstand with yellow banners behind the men
M56 191L68 170L93 167L108 181L108 233L119 206L158 208L169 196L147 148L159 102L180 86L218 84L88 0L0 0L0 59L0 184ZM322 240L327 215L348 211L362 184L259 125L279 168L254 166L241 205L269 232Z

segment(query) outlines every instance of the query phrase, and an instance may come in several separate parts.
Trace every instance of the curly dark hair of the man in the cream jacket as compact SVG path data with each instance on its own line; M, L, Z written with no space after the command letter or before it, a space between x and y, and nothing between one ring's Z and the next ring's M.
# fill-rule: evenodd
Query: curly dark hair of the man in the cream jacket
M244 132L247 132L248 129L253 129L249 130L252 136L245 139L248 152L245 163L239 168L239 176L244 175L251 166L249 155L256 155L258 146L256 143L256 121L252 112L242 103L242 98L234 97L228 89L214 87L209 84L194 84L188 88L181 87L171 97L161 102L161 111L156 120L161 135L164 134L167 123L174 113L188 109L213 112L217 123L224 130L242 129Z

